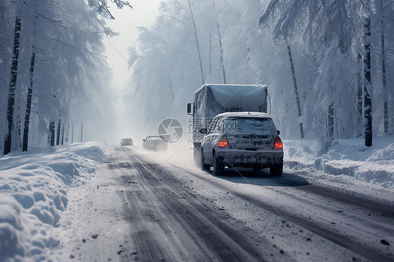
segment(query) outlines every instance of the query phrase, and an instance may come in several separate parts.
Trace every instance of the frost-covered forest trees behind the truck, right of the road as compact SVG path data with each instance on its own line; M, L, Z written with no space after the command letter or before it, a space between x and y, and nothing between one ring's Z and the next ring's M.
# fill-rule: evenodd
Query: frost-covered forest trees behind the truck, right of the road
M136 70L123 98L132 105L130 109L150 116L146 125L152 130L157 126L152 118L160 121L172 116L186 123L184 106L201 86L201 76L206 83L226 79L226 83L266 84L269 113L284 137L302 137L303 132L305 137L322 140L358 137L368 109L362 99L366 79L362 28L369 14L372 125L378 133L385 132L383 102L387 99L390 132L393 88L388 87L394 78L388 74L383 84L381 32L385 32L388 71L393 69L394 36L389 32L393 32L394 5L383 0L382 29L377 2L163 1L161 16L151 27L141 29L133 45L130 61ZM173 99L168 98L172 97L168 80Z

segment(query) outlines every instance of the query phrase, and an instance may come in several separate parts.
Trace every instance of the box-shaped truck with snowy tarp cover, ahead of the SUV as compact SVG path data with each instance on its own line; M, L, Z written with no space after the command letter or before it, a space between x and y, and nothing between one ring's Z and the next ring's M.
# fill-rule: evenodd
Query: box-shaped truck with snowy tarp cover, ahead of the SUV
M194 102L187 104L187 113L193 116L193 156L196 164L204 134L201 129L210 127L213 118L224 112L267 113L266 85L205 84L194 92Z

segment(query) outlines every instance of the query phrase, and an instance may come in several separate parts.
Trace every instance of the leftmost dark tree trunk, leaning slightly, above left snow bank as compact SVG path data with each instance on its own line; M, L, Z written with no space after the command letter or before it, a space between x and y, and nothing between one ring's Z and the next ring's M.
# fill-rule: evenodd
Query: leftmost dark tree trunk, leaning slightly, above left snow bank
M11 152L13 115L14 115L14 105L15 105L15 86L16 86L16 79L18 76L21 19L22 19L22 11L19 10L15 18L13 62L11 67L11 81L8 88L8 105L7 105L8 134L6 135L6 140L4 142L4 155Z

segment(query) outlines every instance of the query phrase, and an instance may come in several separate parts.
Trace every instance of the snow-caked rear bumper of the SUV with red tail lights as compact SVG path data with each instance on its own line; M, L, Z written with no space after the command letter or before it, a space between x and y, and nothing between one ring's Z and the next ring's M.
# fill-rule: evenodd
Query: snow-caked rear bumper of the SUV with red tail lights
M283 151L217 151L219 161L231 167L271 167L283 163Z

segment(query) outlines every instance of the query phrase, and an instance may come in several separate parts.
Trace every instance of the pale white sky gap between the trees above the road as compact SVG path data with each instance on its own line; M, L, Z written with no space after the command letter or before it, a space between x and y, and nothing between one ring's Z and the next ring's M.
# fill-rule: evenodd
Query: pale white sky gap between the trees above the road
M135 27L148 27L153 24L154 19L158 16L158 7L161 1L163 0L129 0L133 9L125 6L119 10L114 4L111 5L111 13L115 20L109 20L107 25L111 27L112 31L119 33L118 36L104 41L109 67L114 74L113 88L119 94L118 102L116 102L116 132L111 132L111 137L109 137L111 142L118 143L118 139L121 137L132 137L135 142L139 140L137 137L133 137L133 127L128 123L129 112L121 100L121 90L132 72L132 69L128 69L126 60L128 60L128 47L133 46L138 38L139 32Z

